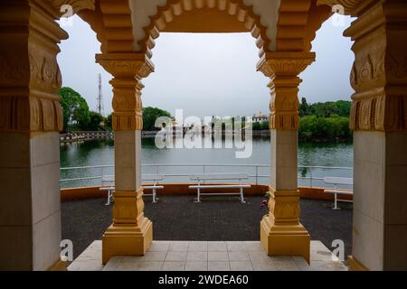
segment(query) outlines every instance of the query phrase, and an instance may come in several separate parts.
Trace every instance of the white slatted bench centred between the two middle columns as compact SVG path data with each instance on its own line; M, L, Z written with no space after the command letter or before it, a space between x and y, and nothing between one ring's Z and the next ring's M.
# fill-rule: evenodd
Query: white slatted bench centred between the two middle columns
M249 179L247 174L233 174L233 173L205 173L205 174L194 174L190 177L191 181L197 182L196 185L190 185L189 189L196 189L196 201L201 202L201 195L206 196L240 196L241 203L245 203L243 189L251 188L249 183L243 183ZM232 181L238 182L237 184L210 184L207 185L205 182L212 181ZM239 192L217 192L217 193L203 193L201 190L207 189L239 189Z

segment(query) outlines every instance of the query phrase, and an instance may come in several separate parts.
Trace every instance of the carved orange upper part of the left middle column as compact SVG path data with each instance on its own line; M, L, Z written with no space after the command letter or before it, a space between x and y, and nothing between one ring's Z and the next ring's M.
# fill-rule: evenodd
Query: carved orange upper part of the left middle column
M113 86L113 129L142 130L143 115L141 79L154 71L154 65L144 53L98 54L96 61L114 79Z

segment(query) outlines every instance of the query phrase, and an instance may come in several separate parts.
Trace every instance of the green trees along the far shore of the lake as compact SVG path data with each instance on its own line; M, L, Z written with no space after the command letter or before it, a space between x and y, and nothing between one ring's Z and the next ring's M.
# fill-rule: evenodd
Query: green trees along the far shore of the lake
M69 130L111 130L112 116L100 116L91 111L85 98L71 88L62 88L63 127ZM299 105L299 139L302 141L349 140L352 131L349 129L351 102L318 102L308 104L302 98ZM154 131L157 117L172 117L166 110L157 107L143 108L143 130ZM245 122L245 119L243 119ZM269 130L269 122L255 122L254 131Z

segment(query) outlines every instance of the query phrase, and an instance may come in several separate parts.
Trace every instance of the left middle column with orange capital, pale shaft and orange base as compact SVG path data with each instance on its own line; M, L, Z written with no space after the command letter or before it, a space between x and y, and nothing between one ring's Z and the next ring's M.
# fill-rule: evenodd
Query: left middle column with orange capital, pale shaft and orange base
M115 203L113 224L103 236L103 264L111 256L141 256L153 240L153 224L144 217L141 187L141 83L154 67L144 54L99 54L99 62L114 76Z

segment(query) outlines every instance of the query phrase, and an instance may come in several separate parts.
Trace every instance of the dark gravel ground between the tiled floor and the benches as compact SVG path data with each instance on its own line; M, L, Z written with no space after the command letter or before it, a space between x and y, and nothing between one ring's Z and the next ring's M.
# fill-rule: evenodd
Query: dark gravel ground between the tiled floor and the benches
M260 238L260 197L246 204L227 198L210 198L194 203L192 196L163 196L156 204L146 199L145 215L154 222L156 240L249 241ZM111 206L105 199L62 203L62 238L71 239L74 255L101 236L111 224ZM301 222L311 239L331 248L332 241L345 242L345 256L352 251L352 207L332 210L332 202L301 200ZM332 248L331 248L332 249Z

